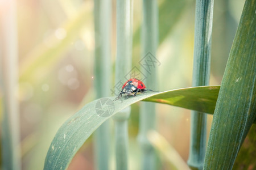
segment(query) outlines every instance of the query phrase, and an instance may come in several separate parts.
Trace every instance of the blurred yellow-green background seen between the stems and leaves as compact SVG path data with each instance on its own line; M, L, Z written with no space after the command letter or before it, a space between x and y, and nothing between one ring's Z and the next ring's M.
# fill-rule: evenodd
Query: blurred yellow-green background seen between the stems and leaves
M195 1L159 0L159 91L190 87L193 66ZM215 1L210 85L221 83L244 1ZM115 61L115 1L112 5L112 63ZM1 18L5 9L1 8ZM60 125L94 100L93 1L17 1L20 146L22 169L42 169ZM133 66L139 66L142 1L134 1ZM1 31L1 29L0 29ZM2 34L2 33L1 33ZM0 40L1 41L1 40ZM1 44L4 42L1 42ZM0 53L5 54L0 47ZM114 76L113 76L114 77ZM113 79L113 78L112 78ZM114 86L114 80L113 84ZM147 84L146 84L147 86ZM109 89L106 89L109 90ZM0 97L2 97L0 91ZM1 106L0 106L1 107ZM156 104L157 129L187 161L190 111ZM129 120L129 168L139 169L139 103ZM208 134L212 116L208 115ZM113 121L112 135L114 132ZM114 168L114 139L111 167ZM93 143L86 141L69 169L93 169ZM161 157L162 169L167 169ZM113 169L112 168L112 169Z

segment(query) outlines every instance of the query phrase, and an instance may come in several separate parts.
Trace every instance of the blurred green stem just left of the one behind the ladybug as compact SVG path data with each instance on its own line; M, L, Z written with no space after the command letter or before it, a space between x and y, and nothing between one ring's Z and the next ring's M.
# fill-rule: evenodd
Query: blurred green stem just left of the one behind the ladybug
M94 0L95 30L95 71L94 87L96 99L110 96L110 27L111 2ZM97 169L109 169L110 128L109 121L104 122L94 133L95 166Z

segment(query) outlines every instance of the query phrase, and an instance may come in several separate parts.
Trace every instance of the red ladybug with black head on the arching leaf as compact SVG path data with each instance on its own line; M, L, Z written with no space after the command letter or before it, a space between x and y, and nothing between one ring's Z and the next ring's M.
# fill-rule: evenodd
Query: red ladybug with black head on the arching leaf
M138 92L144 94L145 91L152 91L149 89L146 90L145 88L146 88L146 86L141 80L138 80L135 78L129 79L129 80L127 80L127 82L125 82L125 84L123 84L122 90L119 93L119 95L117 96L117 98L115 98L115 100L118 100L120 97L122 97L122 94L127 94L127 96L135 97L135 95Z

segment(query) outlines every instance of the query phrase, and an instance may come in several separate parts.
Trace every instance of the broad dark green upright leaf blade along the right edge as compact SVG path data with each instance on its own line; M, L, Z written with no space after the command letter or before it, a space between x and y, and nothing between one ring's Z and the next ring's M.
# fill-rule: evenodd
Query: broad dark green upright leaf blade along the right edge
M213 115L204 169L232 169L256 117L256 1L247 0Z

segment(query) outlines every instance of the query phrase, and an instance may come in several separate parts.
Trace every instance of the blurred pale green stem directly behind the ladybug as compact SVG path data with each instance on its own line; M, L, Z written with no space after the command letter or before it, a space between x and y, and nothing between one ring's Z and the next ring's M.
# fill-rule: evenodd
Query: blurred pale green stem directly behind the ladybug
M117 0L117 58L115 62L115 86L126 82L125 75L131 69L133 44L133 0ZM122 87L122 86L121 86ZM122 88L115 89L118 95ZM128 169L128 128L130 107L114 116L116 169Z

